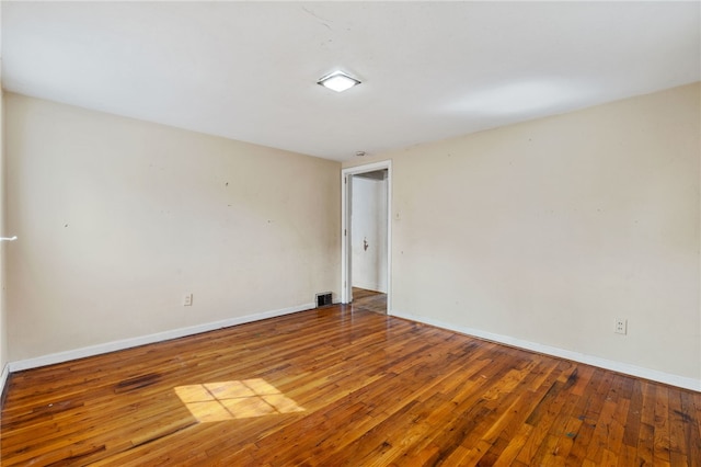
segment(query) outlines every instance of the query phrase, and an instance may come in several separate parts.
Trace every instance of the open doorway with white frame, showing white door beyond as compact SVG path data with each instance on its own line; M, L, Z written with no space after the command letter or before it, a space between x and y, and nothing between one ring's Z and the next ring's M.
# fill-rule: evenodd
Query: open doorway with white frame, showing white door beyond
M343 304L391 310L390 205L390 161L342 171Z

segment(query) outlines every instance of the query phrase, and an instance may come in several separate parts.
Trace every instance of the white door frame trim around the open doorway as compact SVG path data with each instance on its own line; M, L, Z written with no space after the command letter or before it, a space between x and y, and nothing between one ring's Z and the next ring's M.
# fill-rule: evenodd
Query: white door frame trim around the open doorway
M341 303L353 300L350 274L350 186L348 178L387 169L387 314L392 309L392 161L367 163L341 170Z

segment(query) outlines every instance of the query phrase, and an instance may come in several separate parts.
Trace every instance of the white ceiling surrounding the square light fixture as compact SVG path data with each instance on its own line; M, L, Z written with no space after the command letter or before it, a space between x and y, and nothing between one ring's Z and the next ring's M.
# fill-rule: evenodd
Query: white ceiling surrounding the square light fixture
M335 160L701 80L699 2L2 2L2 86ZM341 68L363 81L335 93Z

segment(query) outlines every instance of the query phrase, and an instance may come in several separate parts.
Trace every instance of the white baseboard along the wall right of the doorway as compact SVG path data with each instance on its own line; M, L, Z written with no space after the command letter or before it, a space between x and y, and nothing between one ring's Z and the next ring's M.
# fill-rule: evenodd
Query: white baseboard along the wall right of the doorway
M656 369L650 369L642 366L629 365L627 363L616 362L612 360L601 358L598 356L587 355L579 352L573 352L564 349L553 348L550 345L543 345L536 342L524 341L521 339L512 338L508 335L494 334L492 332L481 331L479 329L466 328L456 324L449 324L435 319L403 314L392 310L391 316L398 318L404 318L410 321L423 322L425 324L435 326L437 328L447 329L449 331L460 332L462 334L472 335L487 341L498 342L501 344L512 345L519 349L525 349L547 355L556 356L560 358L566 358L574 362L584 363L599 368L610 369L612 372L623 373L625 375L635 376L644 379L650 379L657 383L664 383L670 386L677 386L685 389L691 389L701 392L701 379L688 378L685 376L673 375L665 372L658 372Z

